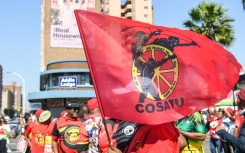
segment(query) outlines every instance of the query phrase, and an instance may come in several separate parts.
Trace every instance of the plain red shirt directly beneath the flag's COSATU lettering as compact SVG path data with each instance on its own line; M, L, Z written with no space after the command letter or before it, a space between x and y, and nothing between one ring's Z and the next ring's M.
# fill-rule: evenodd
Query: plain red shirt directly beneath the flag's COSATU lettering
M179 135L174 122L160 125L140 125L127 153L179 153Z

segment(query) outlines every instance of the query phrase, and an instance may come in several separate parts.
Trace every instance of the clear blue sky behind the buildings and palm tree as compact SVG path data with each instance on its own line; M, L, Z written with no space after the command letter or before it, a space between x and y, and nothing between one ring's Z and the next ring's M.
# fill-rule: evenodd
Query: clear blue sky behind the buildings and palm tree
M199 0L153 0L154 23L156 25L184 29L183 21L189 19L188 12ZM235 19L235 42L229 50L245 67L245 11L241 0L216 0L227 8L228 15ZM7 71L14 71L26 81L26 93L39 91L41 50L41 0L3 1L0 5L0 64L3 66L3 82L20 78Z

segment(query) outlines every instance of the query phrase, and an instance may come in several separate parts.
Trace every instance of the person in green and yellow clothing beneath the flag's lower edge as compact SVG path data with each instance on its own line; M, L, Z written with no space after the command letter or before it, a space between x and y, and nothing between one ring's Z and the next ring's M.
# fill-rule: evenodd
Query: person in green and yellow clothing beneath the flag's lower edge
M177 127L187 140L187 146L182 153L204 153L202 142L206 138L206 126L199 112L180 119Z

